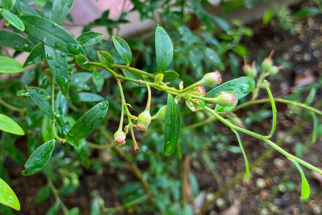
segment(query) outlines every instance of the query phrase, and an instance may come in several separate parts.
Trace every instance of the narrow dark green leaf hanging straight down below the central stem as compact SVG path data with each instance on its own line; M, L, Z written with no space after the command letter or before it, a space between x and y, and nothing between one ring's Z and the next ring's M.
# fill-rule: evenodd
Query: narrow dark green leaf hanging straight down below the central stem
M180 135L180 112L171 94L168 94L167 113L165 121L165 155L171 155L177 146Z

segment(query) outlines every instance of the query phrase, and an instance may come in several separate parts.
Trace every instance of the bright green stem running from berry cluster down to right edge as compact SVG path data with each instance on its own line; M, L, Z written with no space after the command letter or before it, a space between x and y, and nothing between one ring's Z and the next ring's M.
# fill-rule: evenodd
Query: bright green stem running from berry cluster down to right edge
M223 117L221 117L220 115L218 115L214 110L212 110L211 108L205 106L204 110L208 111L209 113L211 113L212 115L214 115L219 121L221 121L222 123L224 123L225 125L227 125L228 127L230 128L233 128L235 130L239 130L243 133L246 133L246 134L249 134L251 136L254 136L256 138L259 138L265 142L267 142L267 144L269 144L271 147L273 147L275 150L279 151L281 154L283 154L285 157L287 157L288 159L292 159L292 160L295 160L297 161L298 163L306 166L307 168L311 169L311 170L314 170L315 172L319 173L319 174L322 174L322 170L314 167L313 165L289 154L288 152L286 152L285 150L283 150L282 148L280 148L279 146L277 146L276 144L274 144L274 142L272 142L271 140L269 140L266 136L264 135L261 135L261 134L258 134L258 133L255 133L253 131L250 131L250 130L247 130L245 128L241 128L239 126L236 126L230 122L228 122L227 120L225 120Z

